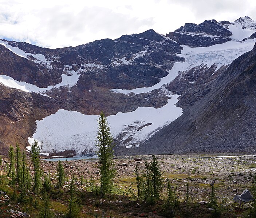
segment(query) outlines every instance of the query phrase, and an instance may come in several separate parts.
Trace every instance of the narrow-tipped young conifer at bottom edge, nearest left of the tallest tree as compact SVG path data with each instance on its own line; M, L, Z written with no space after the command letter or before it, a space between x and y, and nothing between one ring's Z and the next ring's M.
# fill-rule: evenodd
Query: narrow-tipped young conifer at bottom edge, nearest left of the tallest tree
M72 175L71 182L70 182L70 198L69 198L69 204L68 209L66 212L67 218L79 218L80 209L78 205L76 204L76 198L75 198L75 175Z

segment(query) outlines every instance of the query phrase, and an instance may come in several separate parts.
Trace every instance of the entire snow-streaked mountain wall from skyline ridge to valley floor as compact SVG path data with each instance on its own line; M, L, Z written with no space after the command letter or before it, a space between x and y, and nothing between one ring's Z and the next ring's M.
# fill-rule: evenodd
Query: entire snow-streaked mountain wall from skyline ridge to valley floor
M31 137L42 152L94 150L101 110L117 154L254 149L255 27L209 20L61 49L1 40L0 153Z

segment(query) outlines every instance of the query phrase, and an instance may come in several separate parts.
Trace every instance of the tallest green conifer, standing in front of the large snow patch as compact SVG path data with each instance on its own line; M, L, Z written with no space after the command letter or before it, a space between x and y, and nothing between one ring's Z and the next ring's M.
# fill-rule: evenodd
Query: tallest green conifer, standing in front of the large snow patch
M99 172L100 172L100 194L105 194L112 190L113 179L115 177L115 169L113 163L114 144L113 136L110 133L110 127L107 123L107 117L101 111L98 121L98 132L96 139L97 153L99 156Z

